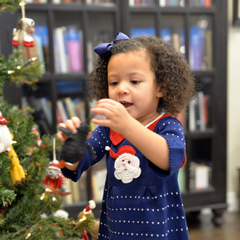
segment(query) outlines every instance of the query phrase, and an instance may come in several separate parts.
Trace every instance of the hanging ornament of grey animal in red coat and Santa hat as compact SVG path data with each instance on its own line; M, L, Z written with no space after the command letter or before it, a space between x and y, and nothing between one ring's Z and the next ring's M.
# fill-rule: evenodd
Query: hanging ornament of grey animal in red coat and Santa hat
M64 184L65 178L62 174L62 171L58 167L59 162L56 160L55 153L55 139L53 140L53 161L50 163L48 167L48 173L44 179L43 184L46 185L46 192L50 192L53 194L67 196L71 194L67 190L66 185Z

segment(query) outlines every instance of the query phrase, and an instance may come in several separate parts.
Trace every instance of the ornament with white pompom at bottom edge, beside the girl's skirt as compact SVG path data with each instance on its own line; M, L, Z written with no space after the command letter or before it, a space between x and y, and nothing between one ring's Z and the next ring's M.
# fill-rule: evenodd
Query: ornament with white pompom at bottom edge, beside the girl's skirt
M89 228L89 233L92 236L92 240L97 240L98 239L98 230L99 230L99 221L95 220L94 214L92 212L92 209L96 207L96 203L93 200L89 201L89 205L83 209L82 212L78 214L78 219L79 222L75 226L75 228L80 225L83 221L86 221L89 218L92 218L92 221L89 222L88 228ZM74 229L75 229L74 228ZM83 234L81 235L83 239L88 240L88 236L86 233L86 230L83 229Z

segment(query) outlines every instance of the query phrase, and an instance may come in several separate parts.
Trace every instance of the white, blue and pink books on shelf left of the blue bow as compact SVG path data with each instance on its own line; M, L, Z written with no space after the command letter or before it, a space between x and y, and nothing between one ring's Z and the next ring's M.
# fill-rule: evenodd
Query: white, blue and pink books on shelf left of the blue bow
M83 70L83 33L78 26L54 29L54 64L56 73Z

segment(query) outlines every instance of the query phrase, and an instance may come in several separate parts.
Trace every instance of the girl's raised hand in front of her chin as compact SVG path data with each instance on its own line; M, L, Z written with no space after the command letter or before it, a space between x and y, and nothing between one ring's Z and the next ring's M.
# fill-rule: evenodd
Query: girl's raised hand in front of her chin
M101 99L95 108L91 109L94 114L103 115L106 119L92 119L92 122L101 126L110 127L118 133L126 129L132 118L125 107L112 99Z

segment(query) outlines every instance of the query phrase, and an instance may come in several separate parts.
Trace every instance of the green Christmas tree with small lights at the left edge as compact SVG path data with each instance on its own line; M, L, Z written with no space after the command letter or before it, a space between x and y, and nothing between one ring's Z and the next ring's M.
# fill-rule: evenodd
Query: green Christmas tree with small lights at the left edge
M1 0L0 14L15 11L22 2ZM36 87L41 63L35 58L24 59L23 49L14 49L8 60L0 53L0 121L15 141L0 153L0 239L80 239L91 219L80 223L56 217L53 213L63 207L63 197L46 192L43 186L53 153L53 136L43 136L42 144L36 147L33 110L21 110L4 101L7 81ZM0 132L0 143L6 138Z

